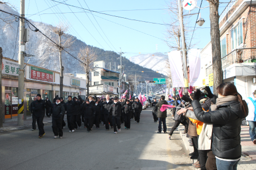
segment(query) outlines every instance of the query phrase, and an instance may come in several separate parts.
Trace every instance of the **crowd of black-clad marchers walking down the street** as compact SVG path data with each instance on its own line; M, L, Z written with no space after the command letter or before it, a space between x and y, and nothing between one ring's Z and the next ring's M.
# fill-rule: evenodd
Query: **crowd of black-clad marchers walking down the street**
M99 124L104 124L106 131L109 128L121 131L121 125L125 125L125 129L131 128L131 120L135 120L137 124L140 122L140 113L142 105L139 98L132 100L126 96L125 99L98 98L96 96L89 96L85 101L80 97L68 96L68 101L64 102L62 97L56 96L53 103L48 98L42 99L41 95L36 95L34 101L31 103L31 112L33 116L32 130L36 129L36 122L39 129L39 138L45 135L43 119L45 116L52 116L52 130L54 138L63 137L63 129L66 127L64 120L67 115L67 127L70 132L75 132L80 129L82 124L87 129L88 133L92 131L93 126L99 129Z

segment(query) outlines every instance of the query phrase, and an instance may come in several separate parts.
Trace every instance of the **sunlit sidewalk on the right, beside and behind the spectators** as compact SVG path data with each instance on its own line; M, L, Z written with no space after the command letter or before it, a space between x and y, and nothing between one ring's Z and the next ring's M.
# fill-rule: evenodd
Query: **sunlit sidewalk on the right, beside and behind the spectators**
M189 138L186 138L184 132L184 126L180 125L178 127L179 133L181 135L182 141L189 151L189 153L194 152L193 146L189 146ZM256 169L256 145L253 144L249 135L249 126L241 126L241 145L242 145L242 156L239 161L237 170L251 170ZM192 163L196 162L196 159L191 159Z

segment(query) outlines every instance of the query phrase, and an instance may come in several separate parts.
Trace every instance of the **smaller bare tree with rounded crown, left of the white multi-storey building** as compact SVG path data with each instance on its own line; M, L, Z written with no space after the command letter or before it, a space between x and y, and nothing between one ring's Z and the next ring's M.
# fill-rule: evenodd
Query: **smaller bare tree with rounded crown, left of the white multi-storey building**
M78 53L78 58L81 60L81 62L83 62L80 64L84 68L86 73L87 97L89 97L89 85L90 85L89 73L92 71L93 62L96 60L96 54L95 54L95 51L93 51L91 48L86 46L85 48L80 49Z

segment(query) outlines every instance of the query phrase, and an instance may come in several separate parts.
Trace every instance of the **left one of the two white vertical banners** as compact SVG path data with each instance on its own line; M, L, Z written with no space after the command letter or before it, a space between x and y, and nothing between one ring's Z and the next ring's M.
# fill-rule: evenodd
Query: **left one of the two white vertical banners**
M185 87L180 51L169 52L168 58L172 73L172 87Z

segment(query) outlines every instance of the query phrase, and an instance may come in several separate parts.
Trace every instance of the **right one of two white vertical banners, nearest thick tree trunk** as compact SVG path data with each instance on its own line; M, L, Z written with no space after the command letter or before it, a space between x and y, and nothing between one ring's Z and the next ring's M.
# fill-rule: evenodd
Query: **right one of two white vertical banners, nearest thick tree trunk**
M201 71L200 49L190 49L188 51L189 57L189 85L203 86L203 78Z

